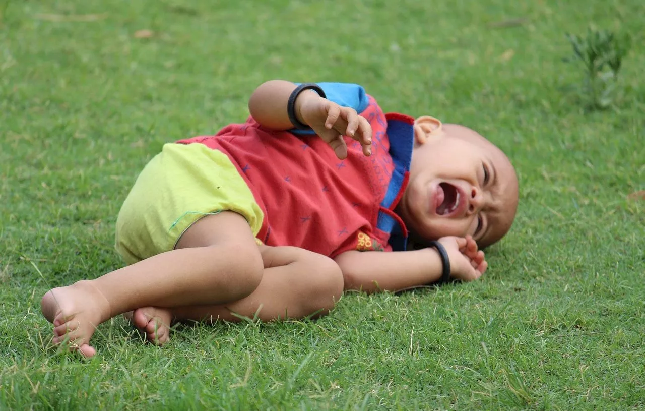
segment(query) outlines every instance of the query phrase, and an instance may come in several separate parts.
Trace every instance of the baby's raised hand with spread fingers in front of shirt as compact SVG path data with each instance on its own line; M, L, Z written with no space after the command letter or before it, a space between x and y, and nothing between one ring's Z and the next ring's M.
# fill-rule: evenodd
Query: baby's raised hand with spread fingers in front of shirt
M371 155L372 126L351 107L342 107L315 92L305 91L295 101L295 110L304 123L326 141L336 157L347 157L347 145L343 135L361 143L364 155Z

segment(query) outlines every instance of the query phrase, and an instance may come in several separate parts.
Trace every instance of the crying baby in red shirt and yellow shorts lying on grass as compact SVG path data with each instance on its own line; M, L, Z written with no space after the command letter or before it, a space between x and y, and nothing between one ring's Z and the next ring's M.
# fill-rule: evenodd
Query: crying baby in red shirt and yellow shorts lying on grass
M510 229L515 170L470 128L384 114L341 83L268 81L249 110L146 165L117 219L128 266L43 297L55 344L94 356L95 328L124 313L163 344L175 321L316 317L343 290L471 281Z

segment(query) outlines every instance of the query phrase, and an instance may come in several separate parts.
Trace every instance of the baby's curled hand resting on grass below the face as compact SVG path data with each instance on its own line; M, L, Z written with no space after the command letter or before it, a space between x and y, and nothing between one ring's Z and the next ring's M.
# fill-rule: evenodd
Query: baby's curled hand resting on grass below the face
M473 237L441 237L439 243L446 248L450 258L450 277L472 281L481 277L488 268L484 252L477 250Z

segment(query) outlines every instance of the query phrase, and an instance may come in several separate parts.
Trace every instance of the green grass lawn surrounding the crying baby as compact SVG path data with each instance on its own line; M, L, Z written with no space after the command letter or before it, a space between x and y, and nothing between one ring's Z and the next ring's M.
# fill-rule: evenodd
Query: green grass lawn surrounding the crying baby
M645 407L642 0L0 0L0 410ZM566 32L633 36L586 112ZM141 30L150 30L142 32ZM483 281L350 293L318 321L123 319L50 345L40 298L121 266L125 195L168 141L243 121L262 81L361 83L463 123L521 183ZM393 276L396 273L392 273Z

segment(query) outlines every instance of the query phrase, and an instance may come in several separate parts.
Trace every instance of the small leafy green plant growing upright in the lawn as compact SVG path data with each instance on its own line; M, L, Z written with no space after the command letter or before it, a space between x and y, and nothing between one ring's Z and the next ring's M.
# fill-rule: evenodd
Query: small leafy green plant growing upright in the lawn
M567 34L573 46L573 57L584 67L583 98L591 110L610 107L616 97L618 74L631 46L628 35L590 28L586 37Z

